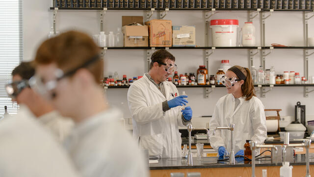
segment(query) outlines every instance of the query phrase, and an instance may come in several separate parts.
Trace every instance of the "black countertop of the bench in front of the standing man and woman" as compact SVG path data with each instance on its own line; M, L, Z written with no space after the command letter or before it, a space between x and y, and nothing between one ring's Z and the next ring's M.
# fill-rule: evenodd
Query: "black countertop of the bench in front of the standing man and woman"
M193 166L188 166L186 160L182 158L160 158L158 163L149 164L150 170L166 170L166 169L193 169L193 168L231 168L231 167L251 167L251 162L243 161L243 158L235 158L235 165L230 165L228 161L217 163L217 157L204 157L203 161L198 161L197 158L193 158ZM305 154L296 154L294 162L290 165L306 165ZM310 165L314 165L314 155L310 154ZM256 160L255 166L267 167L267 166L282 166L282 163L277 165L271 163L270 158L263 158Z

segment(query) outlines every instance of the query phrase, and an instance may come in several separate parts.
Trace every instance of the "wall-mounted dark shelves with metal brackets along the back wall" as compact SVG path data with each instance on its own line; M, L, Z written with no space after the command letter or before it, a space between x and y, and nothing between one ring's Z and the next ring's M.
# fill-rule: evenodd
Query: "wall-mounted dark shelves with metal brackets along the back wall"
M72 10L82 10L82 11L100 11L100 31L103 31L103 25L105 23L104 17L107 11L111 10L123 10L123 11L144 11L146 12L146 20L149 21L154 12L158 12L159 19L163 19L168 11L199 11L205 14L205 47L104 47L102 48L102 54L105 55L107 50L146 50L146 63L147 68L149 68L150 64L150 56L157 49L199 49L204 51L204 62L207 68L209 68L209 57L216 49L246 49L248 52L248 65L251 67L253 65L254 56L260 53L261 65L265 67L266 56L268 56L272 50L274 49L302 49L304 51L304 71L306 78L309 78L308 70L308 60L309 56L314 54L314 52L309 52L310 50L314 50L314 47L308 47L308 20L314 17L313 9L261 9L261 8L250 8L250 9L220 9L220 8L68 8L68 7L50 7L53 13L53 31L56 31L56 14L58 10L72 11ZM246 11L247 12L247 21L252 21L255 17L260 15L260 26L261 26L261 46L257 47L206 47L209 45L208 42L208 26L209 19L217 11ZM266 19L271 16L274 12L301 12L303 15L303 29L304 29L304 47L300 46L288 46L288 47L267 47L265 46L265 23ZM267 52L268 51L268 52ZM178 86L178 88L204 88L205 89L205 97L209 98L209 93L215 87L224 87L224 86ZM304 88L304 97L308 97L308 93L314 91L310 91L310 87L314 87L314 85L256 85L255 87L259 88L261 91L260 95L265 97L265 93L270 91L273 87L303 87ZM265 88L270 88L266 91ZM125 86L109 86L107 89L122 89L128 88ZM211 88L212 90L209 90ZM262 89L261 89L262 88Z

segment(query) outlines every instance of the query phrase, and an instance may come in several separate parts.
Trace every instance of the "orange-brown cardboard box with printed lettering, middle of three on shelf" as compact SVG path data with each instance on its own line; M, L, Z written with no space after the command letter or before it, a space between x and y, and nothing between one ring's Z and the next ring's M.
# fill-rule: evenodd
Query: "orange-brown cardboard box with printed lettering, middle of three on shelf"
M171 47L172 22L171 20L151 20L145 22L149 31L150 47Z

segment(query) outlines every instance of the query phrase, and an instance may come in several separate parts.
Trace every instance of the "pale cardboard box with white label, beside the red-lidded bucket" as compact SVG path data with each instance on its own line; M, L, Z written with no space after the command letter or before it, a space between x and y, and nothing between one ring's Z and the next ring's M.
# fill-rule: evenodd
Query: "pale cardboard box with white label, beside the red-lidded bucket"
M173 47L195 47L195 26L173 26Z

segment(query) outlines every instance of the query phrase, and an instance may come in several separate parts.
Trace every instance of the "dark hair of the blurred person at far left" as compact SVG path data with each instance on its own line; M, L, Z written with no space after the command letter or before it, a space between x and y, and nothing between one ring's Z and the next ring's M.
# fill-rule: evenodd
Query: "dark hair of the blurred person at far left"
M20 65L16 66L11 75L20 75L22 79L29 79L35 74L35 68L33 62L21 62Z

